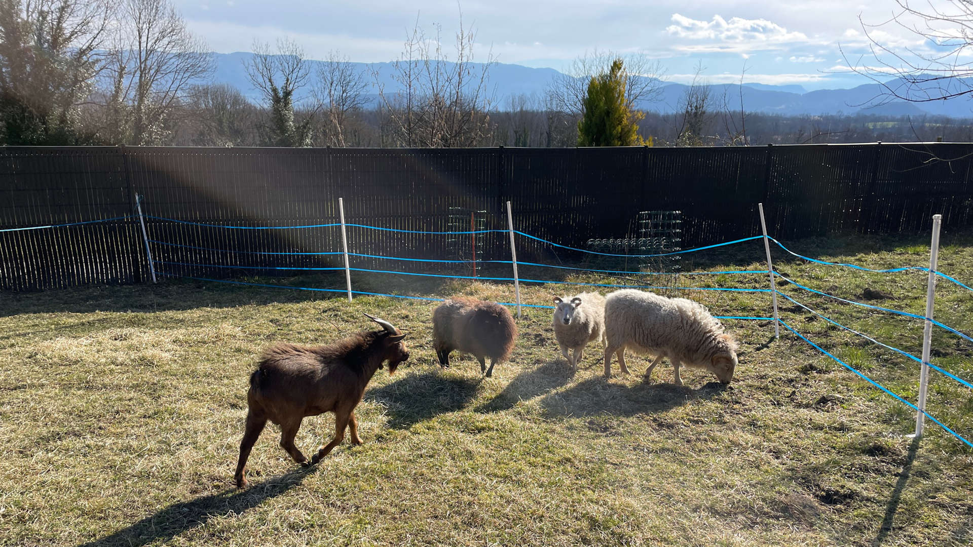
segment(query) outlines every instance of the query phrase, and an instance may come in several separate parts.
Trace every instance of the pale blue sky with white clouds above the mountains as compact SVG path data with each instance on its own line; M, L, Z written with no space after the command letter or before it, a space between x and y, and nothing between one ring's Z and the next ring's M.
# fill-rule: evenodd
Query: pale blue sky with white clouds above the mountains
M444 42L451 45L460 12L453 1L421 0L175 4L215 52L246 52L255 38L272 43L288 37L309 58L337 51L354 61L394 60L416 19L427 35L435 23L442 24ZM745 66L747 82L799 84L808 90L866 83L847 74L839 47L857 59L867 46L859 17L878 23L895 7L891 0L464 0L461 5L464 23L476 30L475 60L492 54L500 62L563 69L586 52L610 50L659 59L673 82L691 80L702 62L709 83L737 82ZM883 26L874 32L894 47L922 47L903 29Z

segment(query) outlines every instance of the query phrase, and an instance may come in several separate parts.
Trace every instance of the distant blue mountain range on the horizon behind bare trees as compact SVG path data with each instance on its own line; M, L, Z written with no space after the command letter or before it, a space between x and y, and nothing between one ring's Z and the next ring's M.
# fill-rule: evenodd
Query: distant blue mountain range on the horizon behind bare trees
M249 53L216 54L216 71L213 82L228 84L243 92L250 100L259 100L246 77L243 62ZM321 61L309 61L311 70L316 71ZM394 92L398 84L392 79L394 73L391 62L352 63L358 70L365 72L372 82L369 92L371 102L378 101L378 82L385 92ZM474 63L479 68L479 63ZM495 63L489 68L488 89L492 91L493 105L499 110L510 109L510 97L519 94L540 99L549 83L559 75L553 68L530 68L519 64ZM642 102L638 106L647 111L671 113L679 107L680 99L688 86L663 82L661 92L654 101ZM709 86L710 100L715 108L722 107L723 97L733 109L739 109L740 86L738 84L719 84ZM931 114L954 118L973 118L973 100L963 95L949 100L931 102L892 101L876 105L876 98L883 91L879 84L865 84L857 88L843 90L806 91L801 86L773 86L759 83L745 83L742 86L743 107L747 112L762 112L787 116L825 115L825 114L876 114L883 116L904 116Z

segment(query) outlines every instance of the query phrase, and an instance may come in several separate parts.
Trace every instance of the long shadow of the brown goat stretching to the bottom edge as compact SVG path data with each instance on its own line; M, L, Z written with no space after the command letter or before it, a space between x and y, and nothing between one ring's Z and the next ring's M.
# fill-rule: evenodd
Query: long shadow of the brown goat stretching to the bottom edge
M255 484L245 490L227 490L204 495L191 501L181 501L100 539L82 543L80 547L110 547L125 545L140 547L149 543L166 542L180 533L205 525L212 518L239 515L271 497L276 497L301 484L317 467L301 467ZM160 541L161 540L161 541Z

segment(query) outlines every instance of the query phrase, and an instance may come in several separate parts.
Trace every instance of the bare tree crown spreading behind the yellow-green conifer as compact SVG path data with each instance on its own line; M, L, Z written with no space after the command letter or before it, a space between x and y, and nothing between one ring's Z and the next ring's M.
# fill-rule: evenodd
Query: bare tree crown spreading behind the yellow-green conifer
M581 116L588 94L588 83L598 74L607 73L611 63L621 58L625 67L625 102L631 110L640 110L662 93L664 70L662 63L646 55L622 55L595 52L580 56L548 85L548 103L560 113Z

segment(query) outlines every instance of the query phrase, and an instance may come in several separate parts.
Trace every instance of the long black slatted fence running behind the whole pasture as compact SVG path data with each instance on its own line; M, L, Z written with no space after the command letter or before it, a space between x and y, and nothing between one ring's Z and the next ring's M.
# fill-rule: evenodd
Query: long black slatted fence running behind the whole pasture
M183 273L197 265L337 265L334 229L223 230L347 222L416 231L455 230L455 211L487 211L479 227L516 228L571 246L632 237L644 210L682 211L682 244L758 234L758 201L775 237L917 233L973 223L973 144L854 144L747 148L276 149L8 147L0 154L0 230L133 213L144 196L157 258ZM500 234L478 244L506 259ZM450 258L443 237L349 229L352 250ZM194 248L196 247L196 248ZM227 252L228 250L234 252ZM238 251L244 251L240 253ZM519 249L524 259L541 245ZM0 288L132 283L148 275L136 219L0 232Z

